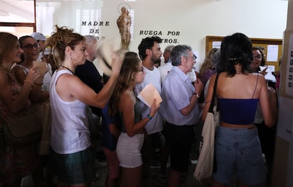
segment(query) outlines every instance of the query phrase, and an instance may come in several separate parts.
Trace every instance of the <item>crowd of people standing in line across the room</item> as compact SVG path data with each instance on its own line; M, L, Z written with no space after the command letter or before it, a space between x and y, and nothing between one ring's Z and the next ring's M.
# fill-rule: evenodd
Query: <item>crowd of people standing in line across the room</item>
M252 47L246 35L226 36L221 49L207 53L199 72L190 45L168 45L162 52L161 38L146 37L138 52L111 54L110 77L93 64L99 42L93 35L55 26L48 38L2 32L0 40L0 130L6 118L18 118L48 99L52 113L46 156L38 155L38 140L18 147L6 144L0 133L4 186L20 186L29 174L35 186L91 186L99 146L108 165L105 186L153 186L155 152L166 186L179 186L190 169L191 148L200 138L216 74L217 170L203 185L270 183L277 92L260 72L263 51ZM156 67L162 56L166 64ZM45 63L47 71L41 73L36 62ZM149 84L162 98L150 107L137 97Z

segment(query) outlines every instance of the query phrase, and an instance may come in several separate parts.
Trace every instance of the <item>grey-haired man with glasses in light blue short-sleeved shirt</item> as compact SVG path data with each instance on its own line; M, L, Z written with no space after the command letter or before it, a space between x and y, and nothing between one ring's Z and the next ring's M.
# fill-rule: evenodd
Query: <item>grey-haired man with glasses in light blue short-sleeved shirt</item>
M167 186L178 186L181 174L188 171L194 126L200 118L198 98L204 86L200 79L194 84L188 78L195 63L188 45L177 45L171 51L173 68L162 88L160 113L166 120L166 142L170 146L171 166Z

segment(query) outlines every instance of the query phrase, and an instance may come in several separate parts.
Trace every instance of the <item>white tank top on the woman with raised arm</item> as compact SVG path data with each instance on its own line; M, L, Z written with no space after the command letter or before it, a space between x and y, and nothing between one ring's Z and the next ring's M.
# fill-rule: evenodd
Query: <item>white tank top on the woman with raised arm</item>
M56 91L56 81L68 70L55 71L50 84L52 111L51 147L59 154L83 151L91 145L86 104L81 101L63 101Z

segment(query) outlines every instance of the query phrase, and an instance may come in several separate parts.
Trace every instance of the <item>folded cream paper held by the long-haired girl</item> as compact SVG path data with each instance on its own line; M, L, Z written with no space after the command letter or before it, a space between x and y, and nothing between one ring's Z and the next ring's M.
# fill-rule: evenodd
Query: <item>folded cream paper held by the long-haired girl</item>
M159 105L163 100L159 94L159 92L156 90L153 84L148 84L142 89L142 91L137 96L142 102L146 104L146 106L149 106L151 108L151 104L154 101L154 98L156 98L156 104Z

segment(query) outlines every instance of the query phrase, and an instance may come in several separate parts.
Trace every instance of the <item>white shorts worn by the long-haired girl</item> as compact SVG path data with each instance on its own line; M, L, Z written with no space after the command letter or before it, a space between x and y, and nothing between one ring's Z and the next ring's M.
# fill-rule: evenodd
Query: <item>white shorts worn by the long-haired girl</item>
M120 162L120 166L124 168L135 168L142 165L142 144L144 142L144 134L137 134L130 137L125 132L121 132L116 152Z

